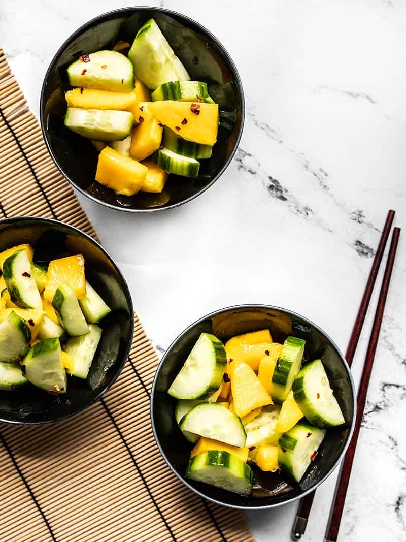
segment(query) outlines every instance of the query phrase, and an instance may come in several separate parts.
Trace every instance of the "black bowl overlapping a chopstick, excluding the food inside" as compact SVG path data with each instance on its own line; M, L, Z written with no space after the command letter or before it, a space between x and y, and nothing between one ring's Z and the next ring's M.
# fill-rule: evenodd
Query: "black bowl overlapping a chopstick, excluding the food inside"
M268 328L274 341L287 335L306 340L304 359L321 358L330 385L345 418L344 428L330 429L319 448L316 460L299 484L283 474L265 473L253 466L256 484L251 496L242 496L185 478L188 456L193 448L181 434L174 417L175 399L169 386L184 364L200 333L214 333L223 342L249 331ZM348 365L333 340L316 324L284 308L267 305L240 305L221 309L194 322L165 352L156 371L152 388L151 420L156 442L173 472L189 488L217 504L233 508L271 508L291 502L316 489L337 467L348 447L355 423L355 388Z

